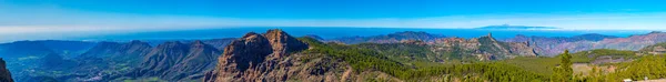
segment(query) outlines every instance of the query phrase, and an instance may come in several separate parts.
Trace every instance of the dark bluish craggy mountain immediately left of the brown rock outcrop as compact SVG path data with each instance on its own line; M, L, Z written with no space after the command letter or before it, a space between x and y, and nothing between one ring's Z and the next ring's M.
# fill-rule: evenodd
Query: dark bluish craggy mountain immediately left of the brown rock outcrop
M169 81L198 80L204 71L215 66L220 51L202 41L190 44L165 42L144 57L141 68L131 72L131 78L158 76Z

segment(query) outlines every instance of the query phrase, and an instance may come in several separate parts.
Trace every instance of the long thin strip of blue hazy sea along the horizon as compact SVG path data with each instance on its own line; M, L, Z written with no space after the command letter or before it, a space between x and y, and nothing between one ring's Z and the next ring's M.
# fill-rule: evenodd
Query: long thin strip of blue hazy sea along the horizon
M539 37L572 37L586 33L599 33L606 35L628 37L633 34L645 34L650 31L627 31L627 30L503 30L503 29L404 29L404 28L349 28L349 27L280 27L280 28L221 28L221 29L199 29L199 30L178 30L178 31L152 31L104 34L81 38L69 38L68 40L192 40L192 39L219 39L242 37L246 32L264 32L269 29L282 29L295 37L306 34L320 35L324 39L334 39L343 37L370 37L381 35L402 31L424 31L432 34L442 34L446 37L477 38L492 33L494 38L506 39L516 34L539 35Z

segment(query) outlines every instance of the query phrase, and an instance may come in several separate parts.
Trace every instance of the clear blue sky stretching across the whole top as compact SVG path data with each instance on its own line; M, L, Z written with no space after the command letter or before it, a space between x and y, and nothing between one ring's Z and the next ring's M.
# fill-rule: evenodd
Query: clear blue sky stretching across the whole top
M0 37L228 27L666 30L664 0L0 0ZM75 32L75 33L74 33Z

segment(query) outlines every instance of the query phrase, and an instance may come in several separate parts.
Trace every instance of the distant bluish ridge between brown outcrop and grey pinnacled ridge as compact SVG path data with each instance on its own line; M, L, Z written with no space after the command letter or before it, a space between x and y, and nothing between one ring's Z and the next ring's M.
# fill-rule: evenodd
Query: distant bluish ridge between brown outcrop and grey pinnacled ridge
M373 37L349 37L349 38L337 38L327 41L333 42L343 42L346 44L356 44L356 43L398 43L402 40L421 40L424 42L432 42L435 39L445 38L444 35L431 34L423 31L404 31L404 32L395 32L386 35L373 35Z

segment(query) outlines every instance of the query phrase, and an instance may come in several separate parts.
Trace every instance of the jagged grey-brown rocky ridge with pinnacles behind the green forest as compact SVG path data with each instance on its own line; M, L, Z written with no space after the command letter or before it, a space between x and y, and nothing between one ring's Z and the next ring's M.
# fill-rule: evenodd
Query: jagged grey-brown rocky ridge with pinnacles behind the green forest
M537 53L525 42L501 42L492 34L465 40L462 38L437 39L432 51L457 55L474 55L478 60L496 60L514 57L535 57Z

